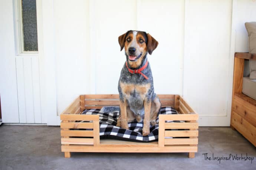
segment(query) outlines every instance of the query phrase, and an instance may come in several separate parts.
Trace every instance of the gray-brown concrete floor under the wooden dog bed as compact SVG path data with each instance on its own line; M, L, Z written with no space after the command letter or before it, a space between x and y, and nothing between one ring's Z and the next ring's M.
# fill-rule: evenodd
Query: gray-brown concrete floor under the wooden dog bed
M204 153L215 157L248 154L252 161L205 160ZM196 157L187 153L72 153L65 159L60 152L60 128L54 126L0 126L0 169L99 169L99 170L256 170L256 148L229 127L199 128Z

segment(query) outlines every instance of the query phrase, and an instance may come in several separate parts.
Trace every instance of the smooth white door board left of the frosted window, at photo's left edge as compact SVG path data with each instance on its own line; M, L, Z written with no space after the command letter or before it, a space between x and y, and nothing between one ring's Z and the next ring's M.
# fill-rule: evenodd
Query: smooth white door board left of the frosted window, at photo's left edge
M3 123L19 123L13 1L0 1L0 95Z

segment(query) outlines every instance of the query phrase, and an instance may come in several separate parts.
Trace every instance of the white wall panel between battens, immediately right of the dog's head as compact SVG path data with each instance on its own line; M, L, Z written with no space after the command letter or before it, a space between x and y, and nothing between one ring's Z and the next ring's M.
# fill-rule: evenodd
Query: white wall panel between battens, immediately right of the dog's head
M159 43L152 56L148 54L155 92L182 95L184 1L138 0L137 11L138 30Z

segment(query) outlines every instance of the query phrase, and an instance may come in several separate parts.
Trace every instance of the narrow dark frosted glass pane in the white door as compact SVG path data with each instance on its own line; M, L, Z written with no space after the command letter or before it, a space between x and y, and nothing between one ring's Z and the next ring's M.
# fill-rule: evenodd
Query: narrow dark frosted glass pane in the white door
M38 51L36 0L22 0L24 51Z

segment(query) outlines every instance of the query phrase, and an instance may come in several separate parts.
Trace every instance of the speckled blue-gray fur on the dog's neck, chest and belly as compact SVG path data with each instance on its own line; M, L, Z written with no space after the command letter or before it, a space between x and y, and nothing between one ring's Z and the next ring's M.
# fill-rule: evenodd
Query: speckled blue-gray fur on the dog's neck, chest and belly
M128 62L128 55L126 55L126 60L128 63L128 67L130 67L129 62ZM142 56L143 57L143 56ZM145 65L147 62L147 54L144 56L142 59L142 64L138 68L131 68L131 69L140 69ZM119 98L122 102L124 102L124 94L122 93L122 89L120 87L120 82L125 83L125 84L135 84L135 85L143 85L143 84L148 84L150 83L150 89L148 90L148 93L146 95L146 98L148 101L153 101L155 99L156 94L154 93L154 83L153 83L153 76L150 68L150 63L148 62L148 66L142 71L142 73L148 77L148 79L145 79L144 76L141 74L131 74L126 65L124 64L124 67L122 68L121 75L119 78L118 82L118 92L119 92ZM135 115L144 115L144 105L143 105L143 100L140 97L140 93L134 90L130 94L130 98L127 100L127 103L130 107L130 109L134 112Z

